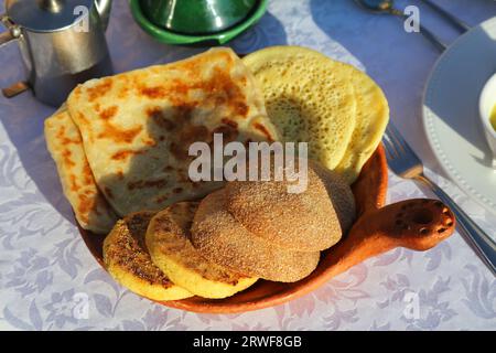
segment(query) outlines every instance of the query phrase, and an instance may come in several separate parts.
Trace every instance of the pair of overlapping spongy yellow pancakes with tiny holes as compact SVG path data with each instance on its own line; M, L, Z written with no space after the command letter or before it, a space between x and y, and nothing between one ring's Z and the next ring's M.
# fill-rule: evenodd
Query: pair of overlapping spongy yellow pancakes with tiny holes
M269 117L282 138L310 142L310 158L336 170L352 184L389 121L388 101L380 87L354 66L305 47L273 46L244 61L261 83ZM343 81L354 90L354 109L339 106L339 100L349 97Z

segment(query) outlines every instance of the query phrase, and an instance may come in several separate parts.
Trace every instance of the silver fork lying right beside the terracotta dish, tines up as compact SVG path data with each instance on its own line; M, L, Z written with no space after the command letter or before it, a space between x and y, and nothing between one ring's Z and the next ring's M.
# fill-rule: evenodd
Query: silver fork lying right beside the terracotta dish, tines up
M412 179L429 186L453 211L465 240L478 253L493 275L496 276L496 243L441 188L424 175L421 160L392 122L389 122L382 142L390 169L401 178Z

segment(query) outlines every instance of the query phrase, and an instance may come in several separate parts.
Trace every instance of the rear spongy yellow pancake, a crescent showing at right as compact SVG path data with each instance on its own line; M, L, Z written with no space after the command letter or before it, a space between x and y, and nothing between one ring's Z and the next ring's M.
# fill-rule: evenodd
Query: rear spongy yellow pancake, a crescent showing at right
M365 73L352 69L357 99L356 124L352 140L335 171L352 184L380 143L389 122L389 105L382 89Z

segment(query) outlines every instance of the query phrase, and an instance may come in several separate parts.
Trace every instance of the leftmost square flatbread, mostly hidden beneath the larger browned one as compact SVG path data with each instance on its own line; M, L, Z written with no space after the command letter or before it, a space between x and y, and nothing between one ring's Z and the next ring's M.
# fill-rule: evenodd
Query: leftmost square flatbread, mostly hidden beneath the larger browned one
M79 130L65 106L45 120L45 140L79 225L97 234L110 232L117 215L96 185Z

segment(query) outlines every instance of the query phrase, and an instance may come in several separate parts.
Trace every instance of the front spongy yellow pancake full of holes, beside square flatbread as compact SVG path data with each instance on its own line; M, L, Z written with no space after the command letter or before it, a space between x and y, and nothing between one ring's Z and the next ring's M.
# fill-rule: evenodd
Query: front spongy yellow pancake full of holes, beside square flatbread
M261 85L281 138L309 142L309 158L334 169L355 128L349 65L300 46L272 46L242 61Z

